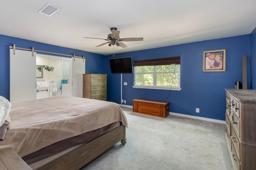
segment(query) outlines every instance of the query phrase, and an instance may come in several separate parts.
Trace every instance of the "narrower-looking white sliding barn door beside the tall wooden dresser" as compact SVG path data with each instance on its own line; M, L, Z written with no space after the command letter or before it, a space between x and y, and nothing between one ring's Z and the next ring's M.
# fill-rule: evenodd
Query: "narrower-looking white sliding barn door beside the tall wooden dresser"
M72 57L72 96L83 97L83 74L85 74L85 59Z

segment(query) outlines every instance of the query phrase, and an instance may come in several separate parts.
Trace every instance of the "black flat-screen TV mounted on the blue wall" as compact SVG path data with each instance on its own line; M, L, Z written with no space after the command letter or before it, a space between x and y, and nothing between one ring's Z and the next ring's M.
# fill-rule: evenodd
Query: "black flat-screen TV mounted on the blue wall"
M133 73L132 57L109 59L111 73Z

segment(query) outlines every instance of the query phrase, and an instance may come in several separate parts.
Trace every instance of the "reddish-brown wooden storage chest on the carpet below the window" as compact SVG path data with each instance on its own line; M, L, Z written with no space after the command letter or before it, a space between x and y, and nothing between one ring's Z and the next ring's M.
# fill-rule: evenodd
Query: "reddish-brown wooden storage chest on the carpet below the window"
M170 111L170 102L148 99L134 99L132 100L132 110L134 112L147 115L167 117Z

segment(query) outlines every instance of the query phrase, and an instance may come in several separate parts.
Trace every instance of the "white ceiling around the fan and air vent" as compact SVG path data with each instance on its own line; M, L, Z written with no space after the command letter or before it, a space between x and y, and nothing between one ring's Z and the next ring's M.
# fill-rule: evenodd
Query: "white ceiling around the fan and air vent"
M61 10L38 13L48 3ZM250 34L256 0L2 0L0 14L2 35L109 55ZM83 38L106 39L110 27L144 41L110 49L96 47L105 40Z

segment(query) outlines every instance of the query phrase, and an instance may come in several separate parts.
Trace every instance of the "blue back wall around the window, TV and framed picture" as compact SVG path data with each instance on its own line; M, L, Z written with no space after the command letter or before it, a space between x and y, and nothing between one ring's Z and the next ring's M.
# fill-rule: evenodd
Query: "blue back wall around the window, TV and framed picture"
M202 53L208 50L226 49L226 72L202 72ZM234 88L234 82L242 82L242 55L250 57L250 35L200 41L143 51L116 54L115 57L132 57L132 61L180 56L180 91L132 88L133 74L122 74L122 99L132 106L132 100L145 98L167 100L170 111L225 120L225 88ZM112 55L106 57L106 63ZM109 63L108 101L120 104L121 74L111 74ZM128 85L124 86L123 82ZM196 107L200 113L196 113Z

